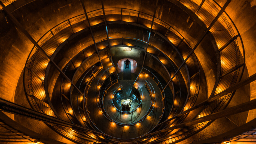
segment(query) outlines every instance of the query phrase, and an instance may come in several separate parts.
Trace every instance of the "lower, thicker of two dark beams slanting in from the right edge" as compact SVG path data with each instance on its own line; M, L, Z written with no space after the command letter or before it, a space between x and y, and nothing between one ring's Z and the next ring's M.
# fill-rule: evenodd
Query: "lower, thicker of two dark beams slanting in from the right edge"
M151 133L150 135L165 133L165 132L168 132L170 130L175 130L175 129L179 129L179 128L182 128L182 127L192 126L194 124L202 123L202 122L205 122L205 121L215 120L215 119L226 117L226 116L229 116L229 115L234 115L234 114L237 114L237 113L249 111L249 110L255 109L255 108L256 108L256 99L245 102L245 103L242 103L240 105L236 105L236 106L231 107L231 108L226 108L222 111L215 112L214 114L206 115L204 117L200 117L200 118L197 118L195 120L190 120L190 121L178 124L176 126L172 126L172 127L168 127L166 129L163 129L163 130L159 130L157 132Z

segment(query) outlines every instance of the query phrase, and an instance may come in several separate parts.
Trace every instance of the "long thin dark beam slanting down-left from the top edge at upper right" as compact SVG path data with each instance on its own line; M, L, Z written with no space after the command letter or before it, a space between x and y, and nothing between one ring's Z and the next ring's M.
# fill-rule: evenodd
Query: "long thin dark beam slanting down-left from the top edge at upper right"
M172 79L175 77L175 75L179 72L179 70L181 69L181 67L186 63L186 61L188 60L188 58L193 54L193 52L196 50L197 46L199 46L199 44L202 42L203 38L207 35L207 33L209 32L209 30L212 28L212 26L215 24L215 22L218 20L218 18L222 15L222 13L224 12L224 10L227 8L228 4L231 2L231 0L227 0L227 2L224 4L224 6L221 8L220 12L217 14L217 16L214 18L214 20L211 22L211 24L209 25L209 27L206 29L205 33L200 37L199 41L196 43L196 45L194 46L194 48L192 49L192 51L188 54L187 58L182 62L182 64L179 66L178 70L175 72L175 74L173 75L173 77L169 80L169 82L166 84L166 86L164 87L164 89L169 85L169 83L172 81Z

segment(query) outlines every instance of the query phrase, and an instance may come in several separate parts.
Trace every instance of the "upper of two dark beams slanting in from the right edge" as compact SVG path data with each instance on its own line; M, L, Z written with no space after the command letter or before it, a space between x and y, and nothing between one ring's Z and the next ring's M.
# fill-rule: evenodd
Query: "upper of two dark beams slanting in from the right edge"
M190 109L188 109L188 110L186 110L186 111L181 112L180 114L176 115L175 117L172 117L172 118L170 118L170 119L168 119L168 120L166 120L166 121L160 123L159 125L164 124L164 123L166 123L166 122L168 122L168 121L171 121L171 120L173 120L173 119L179 117L179 116L182 115L182 114L186 114L186 113L191 112L191 111L193 111L193 110L195 110L195 109L197 109L197 108L199 108L199 107L202 107L202 106L204 106L204 105L206 105L206 104L209 104L210 102L215 101L216 99L221 98L222 96L226 95L227 93L233 92L234 90L237 90L237 89L239 89L240 87L245 86L246 84L249 84L249 83L251 83L251 82L253 82L253 81L255 81L255 80L256 80L256 73L253 74L253 75L250 76L250 77L247 77L247 78L246 78L245 80L243 80L242 82L239 82L239 83L235 84L234 86L229 87L229 88L227 88L226 90L223 90L222 92L220 92L220 93L218 93L218 94L212 96L211 98L209 98L209 99L207 99L207 100L201 102L200 104L195 105L194 107L192 107L192 108L190 108Z

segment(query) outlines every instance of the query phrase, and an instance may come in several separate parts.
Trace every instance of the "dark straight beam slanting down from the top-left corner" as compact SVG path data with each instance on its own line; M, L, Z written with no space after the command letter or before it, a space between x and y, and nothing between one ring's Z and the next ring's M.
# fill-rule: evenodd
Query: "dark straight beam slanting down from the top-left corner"
M6 12L6 14L9 16L9 18L11 19L11 21L17 26L17 28L22 31L22 33L24 33L24 35L26 37L28 37L28 39L35 45L35 47L37 49L39 49L49 60L50 62L54 65L55 68L57 68L57 70L60 72L60 74L62 74L62 76L64 76L69 82L71 82L72 86L75 87L75 89L78 90L78 92L80 92L82 95L83 93L75 86L74 83L72 83L72 81L66 76L66 74L58 67L58 65L53 61L53 59L41 48L41 46L38 45L38 43L33 39L33 37L22 27L22 25L19 23L19 21L13 16L13 14L11 14L11 12L9 12L4 4L0 1L1 6L3 7L3 10Z

